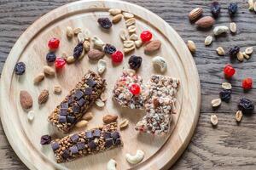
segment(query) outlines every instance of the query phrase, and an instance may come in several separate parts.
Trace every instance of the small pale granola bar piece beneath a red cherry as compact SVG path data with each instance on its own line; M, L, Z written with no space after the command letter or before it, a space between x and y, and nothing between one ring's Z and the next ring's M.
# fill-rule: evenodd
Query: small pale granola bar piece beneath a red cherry
M137 83L141 88L138 95L131 94L131 84ZM131 109L144 109L144 86L143 78L138 76L135 71L123 71L113 88L113 100L117 101L122 107Z

